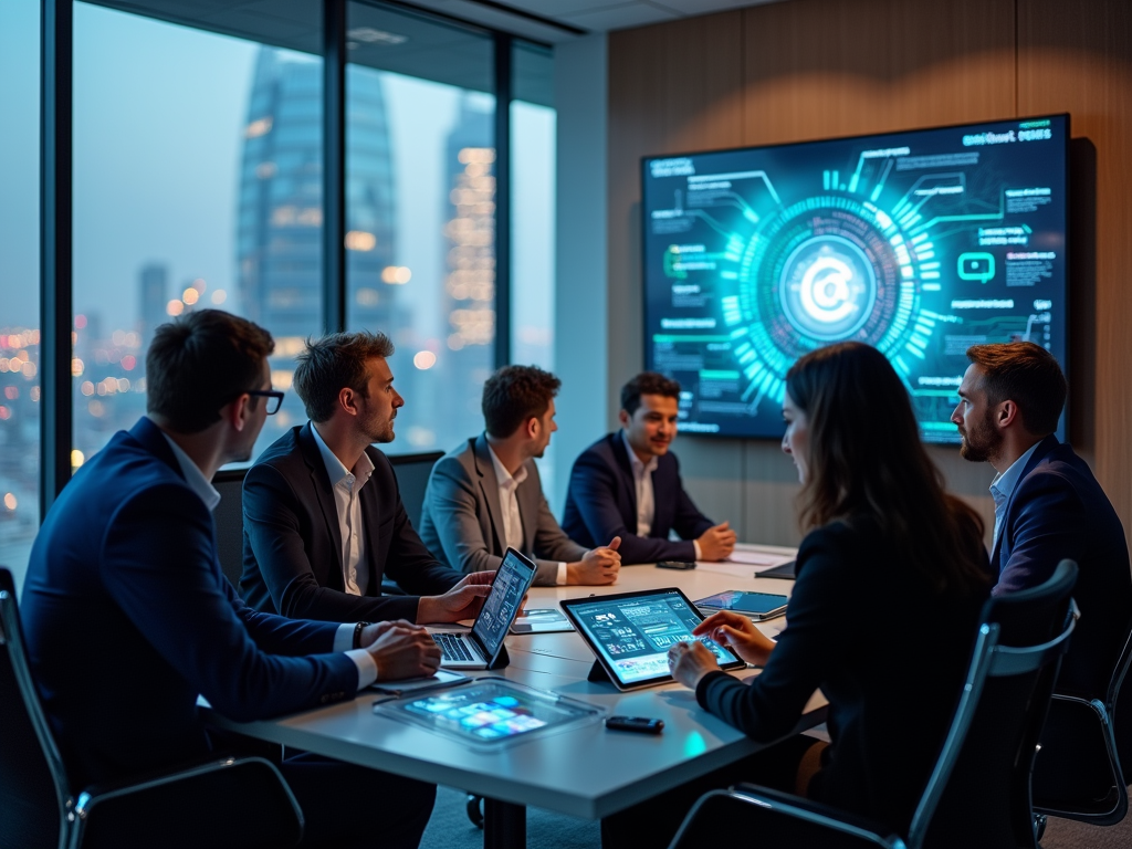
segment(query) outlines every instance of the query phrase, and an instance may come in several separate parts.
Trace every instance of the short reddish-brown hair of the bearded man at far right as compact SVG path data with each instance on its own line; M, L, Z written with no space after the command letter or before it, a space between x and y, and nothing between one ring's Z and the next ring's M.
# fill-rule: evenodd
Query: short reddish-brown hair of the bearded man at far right
M988 406L1013 401L1030 434L1057 430L1065 406L1065 375L1046 349L1034 342L971 345L967 359L983 370Z

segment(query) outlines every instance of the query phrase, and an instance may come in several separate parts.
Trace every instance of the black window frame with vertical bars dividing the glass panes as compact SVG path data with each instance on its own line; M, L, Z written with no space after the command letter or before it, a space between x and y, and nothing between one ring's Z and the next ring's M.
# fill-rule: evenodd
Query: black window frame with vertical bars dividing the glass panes
M357 0L355 0L357 1ZM495 367L511 362L511 104L513 51L529 43L552 45L479 24L429 14L387 0L360 0L372 6L432 17L451 25L489 33L492 40L496 143L496 282ZM346 327L346 85L349 0L321 0L323 20L323 259L321 301L326 332ZM72 104L75 0L42 0L40 52L40 521L71 477L72 409L71 325L72 273ZM137 12L134 12L137 14ZM145 16L143 16L145 17ZM160 18L158 18L160 19Z

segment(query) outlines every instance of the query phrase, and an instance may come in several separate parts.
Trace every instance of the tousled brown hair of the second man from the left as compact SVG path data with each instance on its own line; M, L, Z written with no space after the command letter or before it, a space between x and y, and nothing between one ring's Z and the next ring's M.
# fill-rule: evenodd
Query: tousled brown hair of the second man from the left
M332 333L307 340L307 350L295 357L292 385L307 408L311 421L327 421L334 415L338 393L350 387L369 397L366 363L375 357L389 359L393 342L384 333Z

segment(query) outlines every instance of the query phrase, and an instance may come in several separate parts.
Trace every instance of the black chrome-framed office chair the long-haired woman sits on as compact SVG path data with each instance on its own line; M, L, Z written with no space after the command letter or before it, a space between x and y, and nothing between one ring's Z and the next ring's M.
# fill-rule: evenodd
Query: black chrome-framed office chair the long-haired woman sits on
M1041 586L983 608L963 689L907 835L818 801L739 784L701 797L670 849L721 846L738 835L757 835L760 849L1036 849L1030 770L1075 626L1075 582L1077 564L1062 560Z

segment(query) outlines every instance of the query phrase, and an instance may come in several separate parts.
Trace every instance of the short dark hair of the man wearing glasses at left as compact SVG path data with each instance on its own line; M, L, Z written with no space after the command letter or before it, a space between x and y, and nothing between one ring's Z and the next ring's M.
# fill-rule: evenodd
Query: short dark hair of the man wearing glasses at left
M174 432L198 434L220 421L221 408L259 387L274 350L263 327L218 309L163 324L145 357L146 412Z

